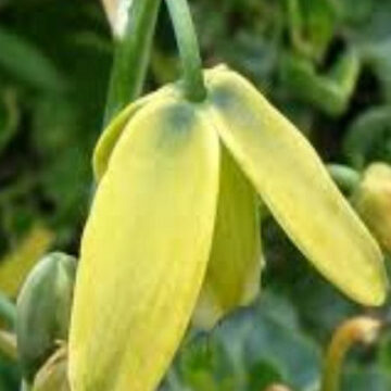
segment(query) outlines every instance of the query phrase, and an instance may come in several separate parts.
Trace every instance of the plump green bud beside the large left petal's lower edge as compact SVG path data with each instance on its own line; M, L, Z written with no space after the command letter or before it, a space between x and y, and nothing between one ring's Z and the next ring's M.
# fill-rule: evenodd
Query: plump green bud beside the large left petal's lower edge
M59 340L67 339L75 274L76 258L51 253L38 262L17 298L17 350L28 381Z

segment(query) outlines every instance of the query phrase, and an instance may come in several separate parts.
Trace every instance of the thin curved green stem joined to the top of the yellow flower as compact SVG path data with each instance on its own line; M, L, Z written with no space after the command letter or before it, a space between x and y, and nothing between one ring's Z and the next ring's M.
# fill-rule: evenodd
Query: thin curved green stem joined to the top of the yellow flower
M173 21L184 68L186 98L193 102L206 98L202 61L194 25L187 0L166 0Z

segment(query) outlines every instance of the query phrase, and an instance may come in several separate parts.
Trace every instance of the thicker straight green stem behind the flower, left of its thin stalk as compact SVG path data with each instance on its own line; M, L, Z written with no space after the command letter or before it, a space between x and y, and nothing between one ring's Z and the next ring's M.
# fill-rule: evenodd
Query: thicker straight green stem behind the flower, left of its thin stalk
M128 15L124 33L116 37L104 127L142 91L161 4L161 0L121 1L119 7L128 3L123 11Z

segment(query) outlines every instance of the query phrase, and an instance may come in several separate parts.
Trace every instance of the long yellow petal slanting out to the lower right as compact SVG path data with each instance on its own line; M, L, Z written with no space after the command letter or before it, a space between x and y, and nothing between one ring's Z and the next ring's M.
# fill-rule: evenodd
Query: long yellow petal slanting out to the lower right
M211 78L211 115L265 203L315 267L352 299L384 301L382 254L307 140L234 72Z

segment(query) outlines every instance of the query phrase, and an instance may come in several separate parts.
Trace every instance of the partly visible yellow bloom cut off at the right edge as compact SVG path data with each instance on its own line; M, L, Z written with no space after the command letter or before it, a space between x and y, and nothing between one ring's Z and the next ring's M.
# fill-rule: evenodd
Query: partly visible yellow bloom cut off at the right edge
M352 199L375 238L391 251L391 167L386 163L369 165Z

